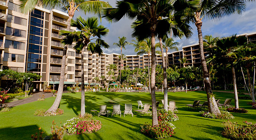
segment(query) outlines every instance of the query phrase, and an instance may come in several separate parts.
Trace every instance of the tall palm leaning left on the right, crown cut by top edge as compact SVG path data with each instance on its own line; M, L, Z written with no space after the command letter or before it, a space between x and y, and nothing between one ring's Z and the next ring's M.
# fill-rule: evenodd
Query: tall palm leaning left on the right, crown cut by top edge
M220 114L220 110L216 104L214 94L211 90L209 73L207 70L206 60L204 58L203 50L203 35L201 27L203 25L203 18L220 19L233 13L241 13L245 10L245 2L241 0L181 0L186 4L186 7L180 7L179 13L184 13L184 20L193 22L197 27L199 51L201 56L201 64L203 69L204 84L207 93L207 100L209 102L208 109L211 113ZM193 6L192 6L193 5Z

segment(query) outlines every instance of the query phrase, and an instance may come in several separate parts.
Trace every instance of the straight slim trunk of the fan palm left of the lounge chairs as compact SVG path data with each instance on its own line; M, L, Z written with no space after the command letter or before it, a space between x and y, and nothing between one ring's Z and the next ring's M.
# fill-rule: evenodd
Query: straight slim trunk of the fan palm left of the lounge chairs
M81 55L81 117L85 115L85 78L83 75L83 52L85 51L85 48L82 49L82 55Z

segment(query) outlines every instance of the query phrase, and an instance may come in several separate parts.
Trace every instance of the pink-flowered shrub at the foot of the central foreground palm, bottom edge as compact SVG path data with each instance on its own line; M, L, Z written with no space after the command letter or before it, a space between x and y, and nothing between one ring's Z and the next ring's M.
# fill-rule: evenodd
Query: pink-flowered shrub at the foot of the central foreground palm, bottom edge
M158 125L151 126L148 123L141 125L141 133L149 137L165 138L173 136L175 126L167 121L159 122Z

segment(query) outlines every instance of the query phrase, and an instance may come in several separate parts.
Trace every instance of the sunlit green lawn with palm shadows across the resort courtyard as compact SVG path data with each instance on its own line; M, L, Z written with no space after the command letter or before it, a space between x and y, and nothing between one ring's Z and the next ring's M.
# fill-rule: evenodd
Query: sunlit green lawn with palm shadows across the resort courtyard
M216 98L220 99L220 103L223 103L226 98L232 98L233 94L214 92ZM149 93L127 93L127 92L86 92L85 94L85 109L86 112L90 112L91 109L99 110L99 105L107 105L108 110L112 111L112 104L121 104L121 110L124 110L125 103L132 103L133 109L138 108L137 100L141 100L142 103L150 103L151 97ZM158 92L156 94L157 101L163 99L163 94ZM34 116L33 113L36 109L45 108L48 109L54 102L54 97L47 98L45 101L36 101L29 104L19 105L12 108L9 112L0 112L0 139L3 140L28 140L31 134L38 132L38 128L41 127L45 131L45 135L50 135L50 126L52 120L55 122L63 123L66 120L73 118L80 113L81 105L81 93L65 93L62 96L60 108L64 110L63 115L40 117ZM220 131L223 129L221 123L223 120L219 119L207 119L198 115L197 111L187 111L186 104L193 104L195 99L206 101L206 94L204 91L194 92L169 92L168 101L176 101L178 106L179 120L172 122L175 126L174 137L168 139L177 140L219 140L226 139L221 136ZM250 100L240 100L239 105L242 108L249 110L249 113L240 114L232 113L235 117L233 121L242 124L242 121L256 123L256 110L251 109L250 105L246 105L246 102ZM234 105L234 101L232 100ZM123 113L123 112L122 112ZM119 116L94 116L94 119L101 120L102 129L96 133L86 135L74 135L68 136L65 134L65 140L150 140L150 138L144 136L139 132L140 125L145 122L151 123L151 116L145 115L131 115L120 118ZM44 136L45 136L44 135Z

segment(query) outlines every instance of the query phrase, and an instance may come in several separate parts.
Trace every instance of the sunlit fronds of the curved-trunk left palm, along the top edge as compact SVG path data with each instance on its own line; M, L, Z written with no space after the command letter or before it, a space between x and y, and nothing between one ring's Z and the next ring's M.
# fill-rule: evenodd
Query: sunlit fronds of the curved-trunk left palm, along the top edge
M99 0L20 0L22 13L32 11L35 6L44 8L62 8L63 11L70 12L70 8L75 12L83 11L84 13L98 14L100 16L102 7L111 7L108 2Z

